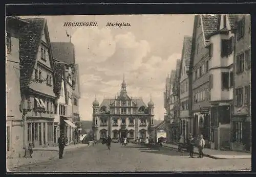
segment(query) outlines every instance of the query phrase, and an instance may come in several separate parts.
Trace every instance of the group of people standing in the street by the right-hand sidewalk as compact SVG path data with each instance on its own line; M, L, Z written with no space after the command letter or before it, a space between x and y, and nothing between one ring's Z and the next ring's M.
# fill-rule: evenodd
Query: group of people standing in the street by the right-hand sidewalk
M183 135L180 136L180 145L184 144L184 137ZM199 151L199 156L198 158L203 158L204 157L204 153L203 153L203 149L205 146L205 140L203 139L203 135L199 135L198 139L193 138L193 135L190 133L188 135L187 138L187 151L189 152L189 156L190 158L194 158L194 147L197 146L198 147L198 151Z

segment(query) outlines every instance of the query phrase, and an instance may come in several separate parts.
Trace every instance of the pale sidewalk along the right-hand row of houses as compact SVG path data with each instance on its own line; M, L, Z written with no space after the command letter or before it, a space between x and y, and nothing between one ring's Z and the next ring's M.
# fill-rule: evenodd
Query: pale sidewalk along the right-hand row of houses
M169 143L163 143L164 147L178 149L178 145L175 144L169 144ZM198 148L194 148L194 153L198 153ZM217 150L217 149L204 149L204 155L206 157L212 158L212 159L251 159L251 154L249 153L241 153L237 151L231 151L231 150Z

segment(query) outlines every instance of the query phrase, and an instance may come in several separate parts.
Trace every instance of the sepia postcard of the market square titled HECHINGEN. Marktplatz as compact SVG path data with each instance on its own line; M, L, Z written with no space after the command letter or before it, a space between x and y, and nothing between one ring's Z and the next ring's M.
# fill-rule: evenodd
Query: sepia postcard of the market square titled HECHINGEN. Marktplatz
M250 24L7 16L7 171L250 171Z

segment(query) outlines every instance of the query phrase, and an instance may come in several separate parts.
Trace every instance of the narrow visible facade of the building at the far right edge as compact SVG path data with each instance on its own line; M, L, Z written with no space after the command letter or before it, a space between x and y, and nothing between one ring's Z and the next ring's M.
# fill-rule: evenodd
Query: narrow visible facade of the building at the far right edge
M251 151L250 15L237 15L235 21L231 149Z

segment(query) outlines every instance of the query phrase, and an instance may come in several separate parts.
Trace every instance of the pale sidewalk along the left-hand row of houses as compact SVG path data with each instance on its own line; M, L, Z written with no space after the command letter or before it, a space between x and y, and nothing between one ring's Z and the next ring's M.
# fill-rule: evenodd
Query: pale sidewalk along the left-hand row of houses
M79 147L87 147L88 144L71 144L68 146L65 146L64 149L64 156L66 151L75 150ZM6 165L7 165L7 171L8 169L39 163L39 162L45 162L52 159L58 158L58 146L55 147L40 147L40 148L33 148L33 158L8 158Z

